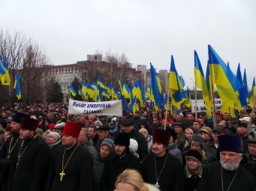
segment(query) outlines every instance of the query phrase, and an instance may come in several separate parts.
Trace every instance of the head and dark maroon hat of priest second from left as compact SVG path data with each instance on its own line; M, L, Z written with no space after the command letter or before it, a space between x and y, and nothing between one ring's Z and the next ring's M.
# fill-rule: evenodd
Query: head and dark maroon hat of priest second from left
M30 139L35 135L39 121L33 118L23 117L20 124L19 139Z

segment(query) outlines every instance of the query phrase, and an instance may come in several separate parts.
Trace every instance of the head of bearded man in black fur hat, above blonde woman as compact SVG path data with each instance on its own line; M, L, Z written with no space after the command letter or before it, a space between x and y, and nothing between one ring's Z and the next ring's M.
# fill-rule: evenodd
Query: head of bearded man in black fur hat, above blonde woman
M124 131L115 138L115 154L120 157L126 152L130 152L130 136Z

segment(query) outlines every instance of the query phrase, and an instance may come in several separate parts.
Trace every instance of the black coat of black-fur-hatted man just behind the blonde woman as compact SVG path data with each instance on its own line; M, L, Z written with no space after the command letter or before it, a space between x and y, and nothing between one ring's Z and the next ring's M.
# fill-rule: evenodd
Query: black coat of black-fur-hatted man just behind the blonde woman
M118 156L108 158L102 172L101 190L114 190L116 178L125 169L136 169L140 172L140 160L129 152L121 159Z

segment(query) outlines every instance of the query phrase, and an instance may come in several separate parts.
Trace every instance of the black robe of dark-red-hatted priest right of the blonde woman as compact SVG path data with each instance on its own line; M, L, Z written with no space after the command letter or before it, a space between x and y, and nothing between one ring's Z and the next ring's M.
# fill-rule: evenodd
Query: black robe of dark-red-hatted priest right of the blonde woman
M167 157L168 154L168 157ZM159 189L162 191L184 190L185 174L183 172L182 164L177 157L172 156L167 152L163 157L156 157L154 153L148 154L142 162L142 176L145 182L155 185L156 174L159 177ZM167 157L167 161L164 161ZM155 162L156 160L156 167ZM163 168L164 166L164 168ZM160 174L162 170L162 173ZM159 176L160 174L160 176Z

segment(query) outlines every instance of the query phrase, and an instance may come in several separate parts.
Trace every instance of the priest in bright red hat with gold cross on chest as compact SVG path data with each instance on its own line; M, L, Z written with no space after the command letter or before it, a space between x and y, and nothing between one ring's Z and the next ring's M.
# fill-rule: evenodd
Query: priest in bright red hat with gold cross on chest
M62 137L63 147L53 155L45 190L93 190L93 159L92 155L77 143L80 131L79 124L66 122Z

